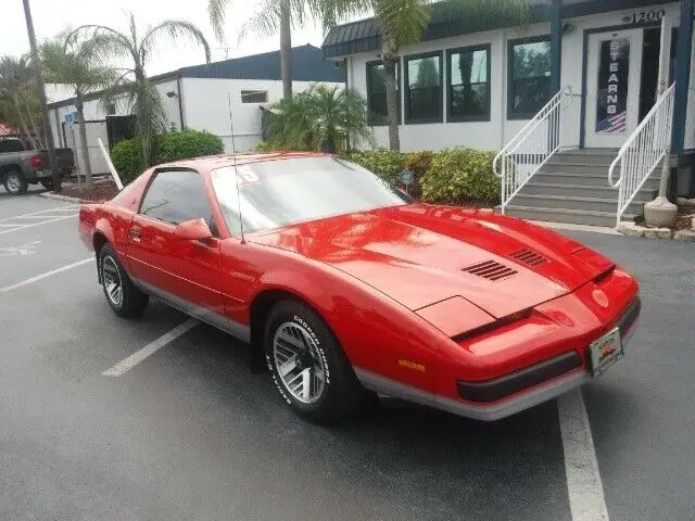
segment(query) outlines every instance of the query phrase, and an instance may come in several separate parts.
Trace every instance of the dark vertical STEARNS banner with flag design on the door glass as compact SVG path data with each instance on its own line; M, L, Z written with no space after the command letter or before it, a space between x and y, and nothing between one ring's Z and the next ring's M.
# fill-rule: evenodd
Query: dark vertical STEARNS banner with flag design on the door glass
M596 134L624 134L628 127L628 78L630 40L616 38L601 42Z

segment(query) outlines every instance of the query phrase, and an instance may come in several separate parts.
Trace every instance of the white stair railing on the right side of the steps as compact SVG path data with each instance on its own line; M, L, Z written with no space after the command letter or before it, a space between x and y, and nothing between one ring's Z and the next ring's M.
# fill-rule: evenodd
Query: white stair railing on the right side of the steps
M608 183L619 190L616 226L671 147L674 87L675 84L671 85L659 97L608 169ZM618 180L616 170L620 173Z

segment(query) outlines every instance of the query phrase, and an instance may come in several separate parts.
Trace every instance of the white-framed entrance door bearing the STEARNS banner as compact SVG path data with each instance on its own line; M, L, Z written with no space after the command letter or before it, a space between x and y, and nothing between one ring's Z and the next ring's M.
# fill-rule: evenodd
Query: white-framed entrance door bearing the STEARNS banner
M629 29L589 37L587 148L619 149L640 123L643 33Z

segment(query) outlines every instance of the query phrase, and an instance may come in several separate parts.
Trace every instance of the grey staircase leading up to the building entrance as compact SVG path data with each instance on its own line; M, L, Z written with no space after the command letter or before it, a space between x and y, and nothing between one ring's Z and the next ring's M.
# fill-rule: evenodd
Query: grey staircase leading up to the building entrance
M617 154L612 149L581 149L554 155L509 202L507 215L615 227L618 190L608 186L608 167ZM644 213L644 203L659 188L659 171L657 168L647 179L622 220Z

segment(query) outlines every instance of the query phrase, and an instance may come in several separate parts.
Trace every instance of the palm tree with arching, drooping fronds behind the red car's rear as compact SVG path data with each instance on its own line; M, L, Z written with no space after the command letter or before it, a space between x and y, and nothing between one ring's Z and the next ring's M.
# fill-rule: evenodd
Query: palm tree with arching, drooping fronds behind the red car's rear
M86 41L89 54L102 63L112 60L130 62L114 81L111 92L113 96L125 94L127 106L135 115L136 130L142 142L142 157L147 166L152 162L154 137L166 130L162 99L146 74L148 59L161 37L172 40L187 38L199 43L205 51L205 61L210 63L207 40L194 24L186 21L165 20L140 34L135 16L130 13L127 31L122 33L104 25L83 25L66 38L67 46L74 45L74 41Z

